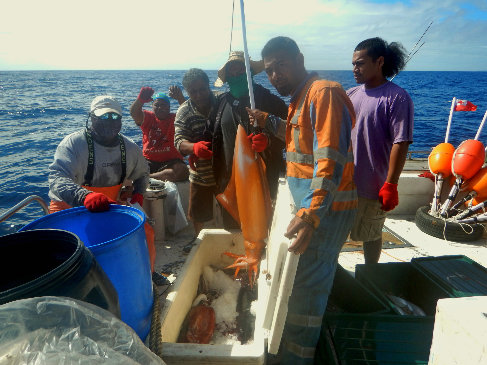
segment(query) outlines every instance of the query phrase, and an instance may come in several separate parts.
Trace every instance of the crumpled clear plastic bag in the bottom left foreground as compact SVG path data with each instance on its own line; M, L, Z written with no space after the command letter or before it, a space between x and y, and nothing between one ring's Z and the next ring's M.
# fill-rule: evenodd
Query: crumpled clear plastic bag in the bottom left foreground
M0 364L164 365L107 310L43 296L0 306Z

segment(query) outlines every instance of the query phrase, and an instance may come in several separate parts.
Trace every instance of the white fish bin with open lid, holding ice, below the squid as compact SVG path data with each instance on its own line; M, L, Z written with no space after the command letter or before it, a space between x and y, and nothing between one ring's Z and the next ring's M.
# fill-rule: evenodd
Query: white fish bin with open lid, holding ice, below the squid
M215 301L220 300L222 304L222 300L226 300L227 306L223 313L219 308L215 310L217 322L215 332L219 331L219 317L221 319L222 315L228 315L232 310L236 310L234 308L237 304L236 297L235 295L231 297L227 292L235 294L235 285L238 291L240 284L234 282L235 285L232 285L227 279L223 279L225 285L222 286L223 275L217 271L232 265L235 261L234 258L222 255L224 252L245 254L244 238L239 231L223 229L201 231L196 246L187 257L161 313L162 358L168 365L262 365L266 363L267 352L277 353L299 261L298 255L287 251L291 241L283 236L290 219L294 217L293 213L296 213L296 207L292 203L285 179L281 178L270 234L262 253L259 278L255 283L257 301L253 301L250 308L250 312L255 315L253 334L244 344L231 335L226 339L220 336L218 341L214 341L219 337L218 333L213 335L210 344L177 342L183 322L197 297L201 275L204 275L206 282L210 282L210 289L220 291L220 296L213 300L211 306L221 307ZM233 275L231 279L233 280ZM214 284L211 283L212 280L215 280ZM219 344L212 344L215 342Z

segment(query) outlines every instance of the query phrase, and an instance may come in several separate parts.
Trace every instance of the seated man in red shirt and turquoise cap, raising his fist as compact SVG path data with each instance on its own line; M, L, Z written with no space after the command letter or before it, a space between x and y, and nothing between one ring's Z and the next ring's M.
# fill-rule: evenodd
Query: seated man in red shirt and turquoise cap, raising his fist
M169 97L158 92L152 99L154 90L141 88L139 96L130 107L130 115L142 129L142 152L149 163L150 177L177 182L187 179L189 170L183 156L174 147L174 119L169 112ZM152 110L142 110L144 103L152 101Z

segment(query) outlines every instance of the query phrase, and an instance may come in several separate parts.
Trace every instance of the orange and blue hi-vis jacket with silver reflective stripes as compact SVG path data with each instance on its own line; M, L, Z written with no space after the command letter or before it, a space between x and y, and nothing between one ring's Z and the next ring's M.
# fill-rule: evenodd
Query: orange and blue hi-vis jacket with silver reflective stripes
M355 111L341 85L312 77L289 105L288 183L297 216L318 227L328 209L357 207L351 131Z

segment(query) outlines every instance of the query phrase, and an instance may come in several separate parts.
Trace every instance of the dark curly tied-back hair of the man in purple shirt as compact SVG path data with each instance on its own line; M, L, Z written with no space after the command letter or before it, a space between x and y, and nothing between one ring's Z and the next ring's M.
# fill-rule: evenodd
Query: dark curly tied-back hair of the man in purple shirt
M401 72L406 66L406 49L399 42L387 42L379 37L361 41L355 47L355 51L367 50L367 55L375 62L380 56L384 57L382 74L391 77Z

